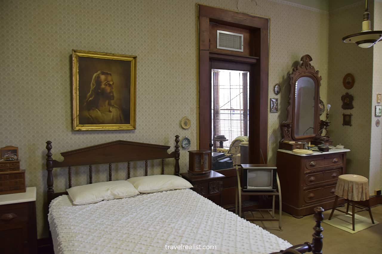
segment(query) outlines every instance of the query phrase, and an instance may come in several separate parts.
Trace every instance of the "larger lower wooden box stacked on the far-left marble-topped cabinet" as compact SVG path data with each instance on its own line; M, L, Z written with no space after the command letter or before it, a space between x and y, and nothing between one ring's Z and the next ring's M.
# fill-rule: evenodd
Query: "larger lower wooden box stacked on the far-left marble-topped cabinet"
M25 192L25 170L0 172L0 195Z

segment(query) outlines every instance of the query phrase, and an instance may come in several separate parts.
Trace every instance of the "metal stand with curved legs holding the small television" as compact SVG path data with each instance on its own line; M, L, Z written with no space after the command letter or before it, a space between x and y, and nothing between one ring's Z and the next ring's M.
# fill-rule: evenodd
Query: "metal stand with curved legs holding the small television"
M244 219L248 221L278 221L278 228L282 230L281 226L281 214L282 214L282 201L281 201L281 187L280 187L280 181L278 180L278 175L276 174L277 177L277 191L243 191L241 188L241 181L240 181L240 171L239 171L239 166L240 164L236 164L236 176L238 180L238 188L236 189L236 195L235 195L235 213L238 214L241 217L241 196L242 195L249 195L249 196L261 196L261 195L270 195L273 196L272 198L272 213L270 213L270 209L255 209L254 211L251 211L253 218L248 218L246 219L244 216ZM278 219L275 217L275 198L278 196L279 199L279 217ZM238 213L238 200L239 200L239 213ZM253 212L260 212L261 218L256 218ZM262 211L268 212L272 218L265 218L264 215L262 214Z

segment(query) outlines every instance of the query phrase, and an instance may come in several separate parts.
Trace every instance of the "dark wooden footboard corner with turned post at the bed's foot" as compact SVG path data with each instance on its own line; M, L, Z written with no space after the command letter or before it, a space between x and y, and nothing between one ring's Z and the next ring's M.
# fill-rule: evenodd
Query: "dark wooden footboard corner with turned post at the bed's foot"
M272 252L270 254L299 254L299 253L306 253L306 252L312 252L314 254L321 254L322 253L322 236L321 232L324 231L324 229L321 227L321 222L324 220L324 215L322 214L324 212L324 209L322 207L316 207L314 208L314 211L316 212L314 214L314 219L316 219L316 225L313 227L314 233L313 233L313 240L312 243L305 242L303 244L298 244L291 246L290 248L286 250L281 250L279 252Z

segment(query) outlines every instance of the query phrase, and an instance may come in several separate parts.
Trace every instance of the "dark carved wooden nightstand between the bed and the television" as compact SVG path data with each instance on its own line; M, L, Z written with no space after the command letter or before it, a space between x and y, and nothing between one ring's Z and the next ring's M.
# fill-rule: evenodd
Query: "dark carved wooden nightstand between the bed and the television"
M200 195L211 199L213 196L220 196L220 202L222 203L222 190L223 190L223 181L222 179L225 175L222 175L214 170L210 170L210 172L206 174L191 174L189 172L180 174L183 178L185 178L188 182L190 182L194 188L195 192Z

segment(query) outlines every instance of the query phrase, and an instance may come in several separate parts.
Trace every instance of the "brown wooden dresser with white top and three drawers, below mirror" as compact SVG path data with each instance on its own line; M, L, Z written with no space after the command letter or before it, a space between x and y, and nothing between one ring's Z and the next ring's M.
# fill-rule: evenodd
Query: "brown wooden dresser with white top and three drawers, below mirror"
M277 150L277 173L282 190L283 211L295 217L313 214L314 207L333 208L339 175L346 174L348 149L296 154ZM344 203L338 199L338 204Z

